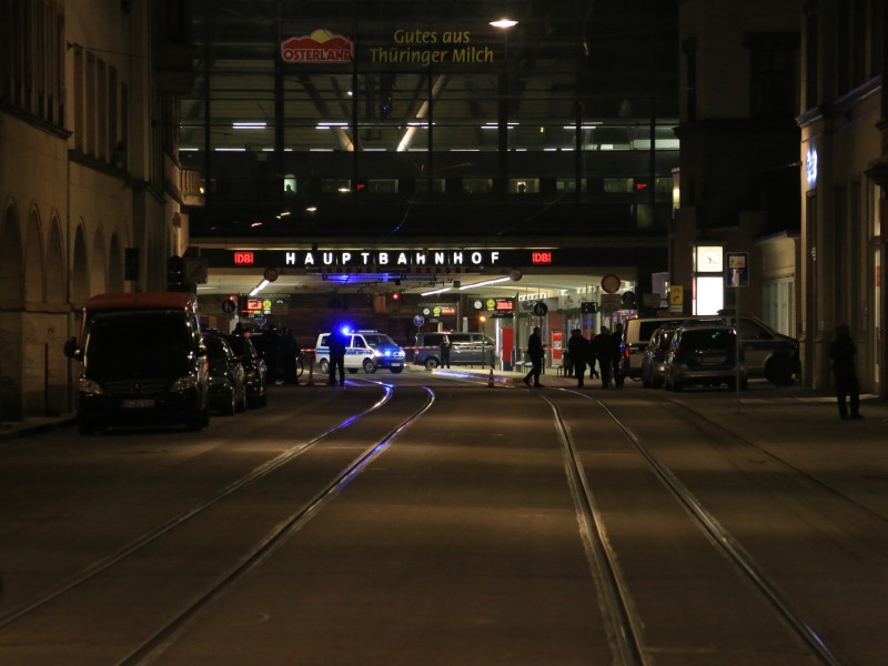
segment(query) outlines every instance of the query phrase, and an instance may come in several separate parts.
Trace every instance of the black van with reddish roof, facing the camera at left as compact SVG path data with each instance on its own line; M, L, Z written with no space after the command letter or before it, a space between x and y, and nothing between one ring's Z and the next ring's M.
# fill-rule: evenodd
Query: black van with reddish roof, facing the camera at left
M83 307L79 340L64 353L83 363L77 383L81 434L107 425L209 424L206 346L193 295L101 294Z

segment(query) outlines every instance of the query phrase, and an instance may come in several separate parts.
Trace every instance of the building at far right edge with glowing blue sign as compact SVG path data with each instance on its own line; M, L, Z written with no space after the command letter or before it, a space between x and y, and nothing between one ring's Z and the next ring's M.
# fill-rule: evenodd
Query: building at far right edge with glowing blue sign
M857 344L861 391L882 396L885 10L884 0L823 0L800 14L807 108L799 117L799 162L807 167L799 303L806 384L833 385L829 342L845 322Z

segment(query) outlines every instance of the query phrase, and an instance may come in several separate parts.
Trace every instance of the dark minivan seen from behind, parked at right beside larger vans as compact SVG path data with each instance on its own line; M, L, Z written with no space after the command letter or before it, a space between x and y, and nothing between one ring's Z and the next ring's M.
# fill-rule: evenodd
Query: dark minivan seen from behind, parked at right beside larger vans
M744 347L737 343L733 326L695 324L676 329L664 367L664 387L680 391L690 384L727 384L735 389L738 376L740 389L746 390Z

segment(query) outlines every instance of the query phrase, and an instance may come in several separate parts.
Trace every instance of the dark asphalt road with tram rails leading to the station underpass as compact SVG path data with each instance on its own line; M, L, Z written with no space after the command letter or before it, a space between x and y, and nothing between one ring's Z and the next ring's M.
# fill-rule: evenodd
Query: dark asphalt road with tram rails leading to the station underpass
M0 663L885 663L881 403L347 380L3 440Z

